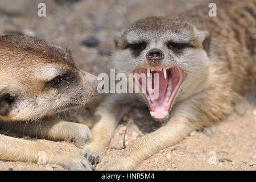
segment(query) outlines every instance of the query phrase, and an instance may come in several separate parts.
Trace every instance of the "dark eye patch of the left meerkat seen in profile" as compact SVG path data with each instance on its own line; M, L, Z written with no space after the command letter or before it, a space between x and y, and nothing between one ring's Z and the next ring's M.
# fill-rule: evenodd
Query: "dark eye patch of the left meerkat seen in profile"
M73 73L66 73L53 78L51 81L46 82L46 88L61 88L68 86L76 80L77 76Z

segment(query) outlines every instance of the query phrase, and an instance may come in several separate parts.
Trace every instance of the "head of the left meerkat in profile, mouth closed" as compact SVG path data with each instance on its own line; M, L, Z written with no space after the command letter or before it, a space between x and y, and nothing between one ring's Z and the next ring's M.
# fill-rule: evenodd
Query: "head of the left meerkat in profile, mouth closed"
M98 97L97 77L61 47L29 36L0 37L0 119L41 118Z

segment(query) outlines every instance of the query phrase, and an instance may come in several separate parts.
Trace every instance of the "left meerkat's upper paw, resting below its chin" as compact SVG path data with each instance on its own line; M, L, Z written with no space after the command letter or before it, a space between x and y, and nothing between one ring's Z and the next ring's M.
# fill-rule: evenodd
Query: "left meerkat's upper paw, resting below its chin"
M74 142L78 148L82 148L85 146L86 142L89 142L92 139L92 132L86 125L82 125L80 123L72 123L69 124L69 140Z

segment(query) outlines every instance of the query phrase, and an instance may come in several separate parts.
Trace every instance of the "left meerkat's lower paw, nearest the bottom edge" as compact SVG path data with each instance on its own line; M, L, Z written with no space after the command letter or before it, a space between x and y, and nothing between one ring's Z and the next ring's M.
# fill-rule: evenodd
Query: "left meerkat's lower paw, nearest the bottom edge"
M60 154L60 155L59 155ZM56 161L56 162L55 162ZM56 152L56 157L53 163L59 164L69 171L95 171L96 169L89 161L81 155L71 152Z

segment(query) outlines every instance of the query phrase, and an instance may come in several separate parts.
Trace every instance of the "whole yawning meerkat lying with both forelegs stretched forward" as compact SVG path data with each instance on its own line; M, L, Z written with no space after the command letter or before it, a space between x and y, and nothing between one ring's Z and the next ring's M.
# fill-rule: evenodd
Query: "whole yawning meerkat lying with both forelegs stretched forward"
M145 18L117 34L116 70L151 78L158 73L159 96L153 100L147 90L108 97L96 111L93 139L82 150L91 163L105 155L123 113L139 99L146 100L151 117L166 121L164 126L131 143L102 169L134 169L191 131L220 121L232 112L250 77L255 84L256 2L216 3L217 17L209 17L205 5L183 15L185 20ZM147 84L153 84L150 77Z

